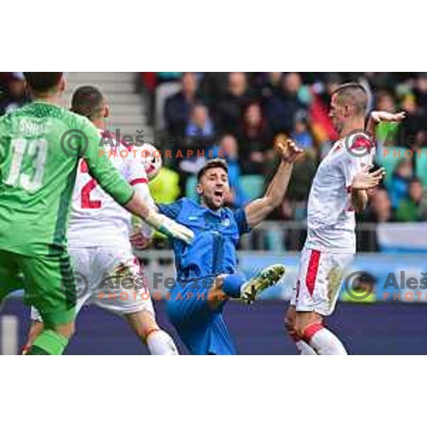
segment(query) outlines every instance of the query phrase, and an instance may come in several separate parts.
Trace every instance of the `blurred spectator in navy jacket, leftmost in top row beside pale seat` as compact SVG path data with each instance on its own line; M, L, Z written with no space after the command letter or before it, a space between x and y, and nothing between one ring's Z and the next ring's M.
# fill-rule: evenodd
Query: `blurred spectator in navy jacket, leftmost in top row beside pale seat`
M174 136L183 137L190 118L191 107L200 97L197 94L197 81L194 73L183 73L181 90L168 97L164 106L167 131Z

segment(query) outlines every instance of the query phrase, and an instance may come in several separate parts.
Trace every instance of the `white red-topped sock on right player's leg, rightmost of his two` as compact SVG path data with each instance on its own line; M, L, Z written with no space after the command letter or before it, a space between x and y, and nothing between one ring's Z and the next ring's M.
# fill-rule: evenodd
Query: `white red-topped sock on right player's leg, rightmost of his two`
M338 337L320 323L307 327L304 331L304 341L310 344L317 354L330 356L347 355L346 349Z

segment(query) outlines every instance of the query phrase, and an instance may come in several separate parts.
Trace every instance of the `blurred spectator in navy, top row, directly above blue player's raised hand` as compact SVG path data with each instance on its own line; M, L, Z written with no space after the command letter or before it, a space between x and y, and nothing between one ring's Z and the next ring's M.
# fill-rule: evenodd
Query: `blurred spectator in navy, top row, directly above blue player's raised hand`
M265 106L266 115L275 134L292 133L295 115L305 110L305 105L298 96L302 89L299 73L288 73L283 77L281 90L273 95Z

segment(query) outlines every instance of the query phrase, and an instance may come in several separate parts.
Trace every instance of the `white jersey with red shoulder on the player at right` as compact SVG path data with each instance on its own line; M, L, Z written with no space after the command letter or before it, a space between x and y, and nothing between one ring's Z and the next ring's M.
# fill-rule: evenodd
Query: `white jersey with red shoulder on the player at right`
M352 147L361 145L369 151L356 157L347 151L344 139L339 139L320 163L308 199L306 248L356 253L350 187L354 175L372 164L374 157L374 148L367 139L352 142Z

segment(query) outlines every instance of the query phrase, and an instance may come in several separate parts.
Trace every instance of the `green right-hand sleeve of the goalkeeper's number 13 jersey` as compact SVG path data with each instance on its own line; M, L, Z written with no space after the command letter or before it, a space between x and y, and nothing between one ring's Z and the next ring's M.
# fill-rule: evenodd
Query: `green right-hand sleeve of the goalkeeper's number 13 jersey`
M118 204L127 204L133 196L132 186L120 175L107 156L100 155L99 131L89 120L83 117L82 119L79 129L88 137L88 140L83 142L87 147L82 147L82 157L88 164L90 174Z

